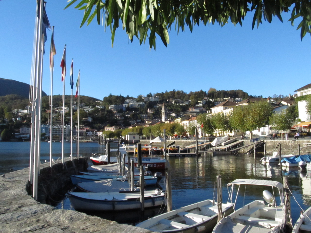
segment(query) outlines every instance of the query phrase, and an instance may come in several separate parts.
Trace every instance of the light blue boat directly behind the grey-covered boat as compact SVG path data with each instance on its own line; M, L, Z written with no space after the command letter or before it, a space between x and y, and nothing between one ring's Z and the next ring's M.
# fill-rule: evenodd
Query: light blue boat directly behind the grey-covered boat
M118 179L121 181L128 182L128 176L88 176L88 175L71 175L70 176L72 184L77 185L79 182L92 182L97 180L107 180L107 179ZM134 178L134 181L138 181L139 177ZM156 176L144 176L144 182L146 185L156 185L158 182L158 177Z

